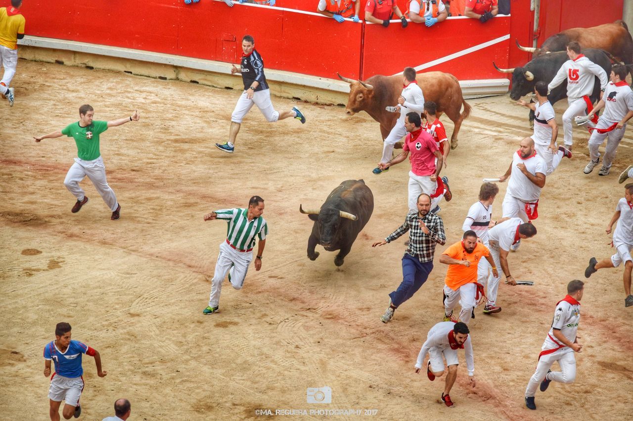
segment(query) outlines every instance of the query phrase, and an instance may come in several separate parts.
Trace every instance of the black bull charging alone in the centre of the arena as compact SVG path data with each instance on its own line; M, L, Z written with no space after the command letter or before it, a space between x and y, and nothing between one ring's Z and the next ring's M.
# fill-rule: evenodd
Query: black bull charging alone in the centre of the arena
M334 259L334 264L340 266L356 236L372 216L372 190L363 180L343 181L332 190L320 209L303 210L299 205L299 212L315 221L308 239L310 260L318 257L315 247L320 244L328 252L341 250Z

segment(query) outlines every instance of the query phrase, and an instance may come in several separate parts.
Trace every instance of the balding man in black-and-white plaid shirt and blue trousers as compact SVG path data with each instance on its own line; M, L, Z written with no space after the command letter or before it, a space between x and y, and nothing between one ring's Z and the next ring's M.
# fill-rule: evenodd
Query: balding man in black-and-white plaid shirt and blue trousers
M433 270L433 255L436 244L446 244L442 218L430 212L431 198L426 193L418 196L418 212L410 213L404 223L383 241L373 243L372 247L385 245L409 232L409 247L402 257L403 279L398 289L389 294L391 303L385 314L380 317L383 323L389 322L399 305L411 298Z

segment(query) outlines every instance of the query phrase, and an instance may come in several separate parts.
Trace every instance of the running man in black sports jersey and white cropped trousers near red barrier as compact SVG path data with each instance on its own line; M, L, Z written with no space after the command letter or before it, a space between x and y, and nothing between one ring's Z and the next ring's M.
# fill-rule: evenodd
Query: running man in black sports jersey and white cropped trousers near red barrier
M284 118L296 118L301 124L306 122L306 118L301 114L297 107L292 107L290 111L275 111L273 103L270 101L270 88L266 82L264 75L264 61L260 53L255 49L255 40L251 35L244 35L242 38L242 61L240 67L231 67L231 74L242 74L242 82L244 82L244 92L237 100L233 114L231 114L231 128L229 131L229 142L216 143L215 147L232 154L235 150L235 140L237 133L242 125L242 118L248 114L253 105L256 105L261 114L264 114L266 120L273 123Z

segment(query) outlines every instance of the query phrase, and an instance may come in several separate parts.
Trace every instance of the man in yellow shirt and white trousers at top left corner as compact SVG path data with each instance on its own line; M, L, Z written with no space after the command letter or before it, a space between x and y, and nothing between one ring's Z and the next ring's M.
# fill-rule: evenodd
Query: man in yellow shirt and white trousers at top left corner
M0 81L0 94L8 99L13 107L13 88L9 83L15 75L18 65L18 39L24 38L25 19L20 13L22 0L11 0L10 8L0 8L0 62L4 67L4 76Z

